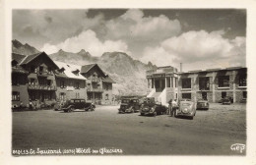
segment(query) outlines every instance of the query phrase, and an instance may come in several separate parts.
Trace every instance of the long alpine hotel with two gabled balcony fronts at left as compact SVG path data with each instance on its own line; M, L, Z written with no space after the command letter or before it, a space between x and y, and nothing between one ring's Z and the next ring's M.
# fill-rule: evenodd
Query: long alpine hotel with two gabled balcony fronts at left
M29 107L30 100L41 107L71 98L110 104L112 83L96 64L52 61L45 52L28 56L12 53L12 108Z

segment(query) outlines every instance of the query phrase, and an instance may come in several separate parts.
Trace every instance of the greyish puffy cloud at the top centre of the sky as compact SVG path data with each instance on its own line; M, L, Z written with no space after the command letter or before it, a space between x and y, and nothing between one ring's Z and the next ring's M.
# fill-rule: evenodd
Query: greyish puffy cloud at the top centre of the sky
M169 20L166 16L144 17L138 9L130 9L122 16L106 22L107 37L124 37L133 40L167 38L178 34L181 25L178 20Z

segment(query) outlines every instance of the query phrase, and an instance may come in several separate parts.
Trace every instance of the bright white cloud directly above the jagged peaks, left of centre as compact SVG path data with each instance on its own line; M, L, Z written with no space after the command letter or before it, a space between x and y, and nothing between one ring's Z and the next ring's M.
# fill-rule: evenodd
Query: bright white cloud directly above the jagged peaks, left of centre
M59 49L74 53L85 49L94 56L101 56L103 52L108 51L129 52L127 44L122 40L105 40L102 42L96 37L96 32L91 29L82 31L78 36L67 38L56 45L45 43L41 51L51 54Z

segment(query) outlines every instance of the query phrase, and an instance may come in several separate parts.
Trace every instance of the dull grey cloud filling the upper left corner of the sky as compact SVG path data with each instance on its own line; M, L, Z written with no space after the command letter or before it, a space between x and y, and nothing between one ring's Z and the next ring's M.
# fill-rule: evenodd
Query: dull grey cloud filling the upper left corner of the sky
M32 43L40 48L42 44L57 44L89 28L97 27L102 15L88 18L88 10L14 10L13 37ZM31 32L23 34L30 27Z

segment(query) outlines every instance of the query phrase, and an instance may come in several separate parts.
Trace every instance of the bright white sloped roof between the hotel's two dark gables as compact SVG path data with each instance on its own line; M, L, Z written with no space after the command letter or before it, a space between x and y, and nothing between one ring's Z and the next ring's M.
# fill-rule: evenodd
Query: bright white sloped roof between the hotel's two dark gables
M74 64L67 64L59 61L53 61L60 69L64 68L64 74L67 76L67 78L71 79L79 79L79 80L87 80L84 76L82 76L80 73L78 75L75 75L74 71L81 71L81 66L74 65Z

